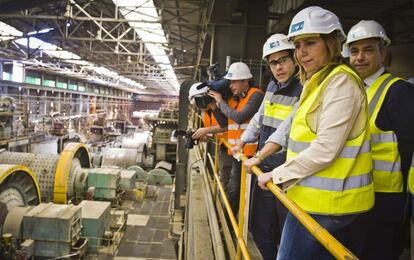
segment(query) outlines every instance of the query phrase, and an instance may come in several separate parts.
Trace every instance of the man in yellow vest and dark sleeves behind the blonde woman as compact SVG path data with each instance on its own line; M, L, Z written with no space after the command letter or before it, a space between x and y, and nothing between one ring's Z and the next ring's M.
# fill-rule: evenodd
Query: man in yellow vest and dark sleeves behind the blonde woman
M414 150L414 88L385 71L391 41L376 21L362 20L348 32L350 63L367 88L374 209L353 228L362 259L398 259L403 246L407 175Z

